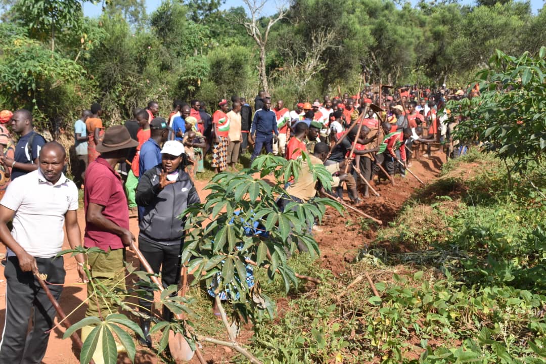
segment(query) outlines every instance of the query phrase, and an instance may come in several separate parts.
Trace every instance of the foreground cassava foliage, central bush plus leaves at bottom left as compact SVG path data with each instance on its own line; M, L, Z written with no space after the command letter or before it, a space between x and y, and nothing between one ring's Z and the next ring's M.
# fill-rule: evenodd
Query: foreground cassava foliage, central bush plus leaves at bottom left
M245 321L260 323L264 317L270 319L275 317L275 302L262 294L260 282L265 285L281 277L285 295L291 287L297 288L298 267L292 266L289 261L290 255L294 254L298 244L301 244L311 256L317 256L318 246L311 235L311 224L315 219L322 220L327 206L341 212L341 205L327 198L314 199L313 204L290 202L284 211L280 210L276 203L277 197L286 193L284 186L288 181L298 180L302 163L308 164L308 173L312 174L315 181L320 182L326 189L331 188L331 174L322 164L312 165L305 152L303 158L299 160L287 160L269 154L256 158L250 169L237 173L217 174L205 188L211 192L205 201L188 207L180 216L187 218L185 226L188 233L183 242L181 261L188 262L188 272L193 275L191 284L212 289L216 295L221 291L227 291L230 297L225 305L229 305L230 312L235 312L237 318L240 315ZM264 180L269 174L274 180ZM264 229L268 235L260 236L259 231ZM78 247L64 250L58 255L89 252L106 254L104 250L96 247L88 249ZM257 275L251 289L246 284L247 266L251 266L250 264ZM86 266L84 270L93 287L101 284L91 276ZM129 289L128 292L93 290L91 299L114 297L114 301L118 302L125 312L141 317L143 313L138 311L136 303L129 300L130 297L142 297L144 294L142 287L150 287L155 291L159 290L159 287L148 273L136 271L133 266L127 266L127 271L127 276L134 275L133 277L139 278L139 286ZM156 309L164 306L174 314L186 315L183 320L169 322L159 318L159 309L152 313L153 326L150 333L161 332L158 353L162 353L167 347L170 330L185 335L193 349L195 340L206 342L209 339L206 337L207 328L194 324L194 320L197 319L192 311L194 300L192 297L177 295L177 290L177 285L171 285L162 291L160 299L155 302ZM116 362L116 347L115 344L111 345L114 336L126 348L129 359L134 361L133 337L121 330L118 325L125 326L138 336L143 336L143 332L125 314L110 314L100 318L86 317L71 326L64 334L64 338L86 325L93 325L94 328L81 350L82 363L90 361L100 333L103 335L102 354L105 363ZM228 346L231 344L227 343Z

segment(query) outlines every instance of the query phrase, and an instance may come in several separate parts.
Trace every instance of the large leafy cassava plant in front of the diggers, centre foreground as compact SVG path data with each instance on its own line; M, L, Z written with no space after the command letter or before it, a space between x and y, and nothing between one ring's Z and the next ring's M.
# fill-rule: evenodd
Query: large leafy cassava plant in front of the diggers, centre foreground
M260 293L260 282L248 289L247 267L266 269L270 280L280 276L288 293L291 284L298 287L288 257L298 247L316 255L311 225L321 221L326 206L341 212L341 205L327 198L292 201L281 211L277 199L287 195L288 183L298 180L303 163L317 183L330 189L331 174L322 164L312 165L307 154L298 160L268 154L249 169L217 174L206 187L211 191L206 200L185 213L188 234L182 261L189 260L193 284L204 283L216 295L228 291L235 313L245 320L259 321L265 312L274 316L274 303Z

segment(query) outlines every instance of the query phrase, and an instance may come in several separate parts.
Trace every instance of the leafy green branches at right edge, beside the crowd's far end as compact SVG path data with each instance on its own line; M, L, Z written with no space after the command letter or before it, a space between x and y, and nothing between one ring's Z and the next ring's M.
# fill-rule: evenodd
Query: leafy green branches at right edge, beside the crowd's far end
M546 47L521 57L497 51L491 67L480 71L479 97L451 102L448 108L462 117L457 136L470 144L479 140L484 151L514 161L523 171L546 151Z

